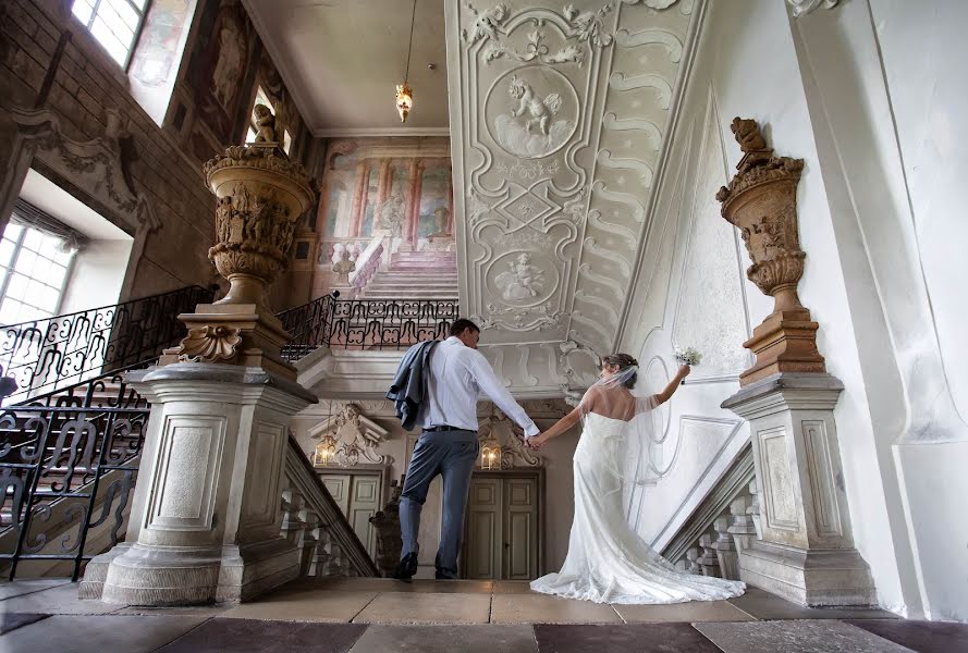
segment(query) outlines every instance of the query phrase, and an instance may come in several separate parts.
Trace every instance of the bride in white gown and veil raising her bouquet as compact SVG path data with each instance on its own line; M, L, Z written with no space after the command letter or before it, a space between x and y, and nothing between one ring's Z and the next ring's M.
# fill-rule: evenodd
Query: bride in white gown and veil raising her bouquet
M531 582L546 594L596 603L682 603L714 601L743 593L745 584L679 571L632 530L625 519L623 489L649 484L658 476L648 459L652 409L667 402L688 373L679 368L658 395L637 397L630 389L638 362L627 354L606 356L600 380L575 410L528 440L540 447L578 420L575 449L575 520L568 555L557 574Z

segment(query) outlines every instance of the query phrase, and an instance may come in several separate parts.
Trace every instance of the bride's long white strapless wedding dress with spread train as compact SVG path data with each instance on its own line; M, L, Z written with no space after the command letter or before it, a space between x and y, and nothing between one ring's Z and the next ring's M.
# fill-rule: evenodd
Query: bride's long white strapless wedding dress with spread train
M596 412L585 416L575 449L575 520L568 555L557 574L531 582L546 594L596 603L682 603L714 601L743 593L734 580L679 571L632 530L623 509L622 485L610 456L623 442L627 422Z

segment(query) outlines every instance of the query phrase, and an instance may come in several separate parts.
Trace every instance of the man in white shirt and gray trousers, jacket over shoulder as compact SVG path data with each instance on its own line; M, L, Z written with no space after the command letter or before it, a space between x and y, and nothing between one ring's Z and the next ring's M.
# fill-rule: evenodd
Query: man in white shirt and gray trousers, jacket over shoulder
M477 350L477 342L480 340L477 324L458 319L451 326L450 334L448 340L429 352L429 362L426 357L419 358L422 360L419 371L427 378L427 385L416 423L424 432L414 446L400 497L403 550L394 578L401 580L409 580L417 571L420 508L427 501L430 482L438 475L443 478L443 519L436 560L437 578L457 578L464 507L467 505L470 473L474 471L479 448L478 395L487 395L507 417L517 422L524 429L525 438L538 434L538 427L514 401L490 364ZM421 346L427 348L424 343L414 345L414 348ZM401 366L414 358L418 357L404 356ZM397 390L394 385L391 394Z

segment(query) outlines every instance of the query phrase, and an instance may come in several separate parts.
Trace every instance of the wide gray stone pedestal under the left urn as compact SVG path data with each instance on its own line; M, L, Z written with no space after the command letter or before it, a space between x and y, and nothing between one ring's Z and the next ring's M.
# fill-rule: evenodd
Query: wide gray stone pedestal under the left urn
M130 377L151 403L127 542L82 595L131 605L246 601L299 575L281 534L289 422L316 402L259 368L186 362Z

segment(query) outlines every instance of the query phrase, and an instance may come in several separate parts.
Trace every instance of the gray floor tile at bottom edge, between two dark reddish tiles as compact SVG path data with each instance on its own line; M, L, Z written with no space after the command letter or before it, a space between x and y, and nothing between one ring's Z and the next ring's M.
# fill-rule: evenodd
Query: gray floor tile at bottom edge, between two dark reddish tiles
M537 653L530 626L370 626L351 653Z

